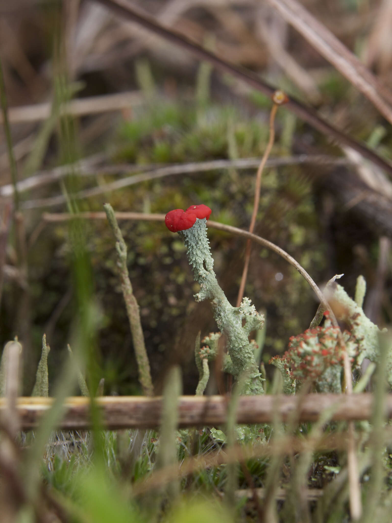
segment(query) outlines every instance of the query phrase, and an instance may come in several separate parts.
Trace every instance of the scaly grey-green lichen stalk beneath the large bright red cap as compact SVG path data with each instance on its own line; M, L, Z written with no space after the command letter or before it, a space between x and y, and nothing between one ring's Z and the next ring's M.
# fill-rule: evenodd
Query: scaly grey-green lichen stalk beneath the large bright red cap
M210 300L217 326L227 339L234 377L238 378L239 374L247 371L249 374L245 394L264 394L263 380L253 357L253 345L248 339L251 331L262 328L263 316L257 313L249 298L244 298L239 307L233 307L228 302L213 270L214 260L210 252L205 218L197 219L190 229L179 231L178 234L187 247L194 279L200 285L200 292L194 295L194 299L198 302Z

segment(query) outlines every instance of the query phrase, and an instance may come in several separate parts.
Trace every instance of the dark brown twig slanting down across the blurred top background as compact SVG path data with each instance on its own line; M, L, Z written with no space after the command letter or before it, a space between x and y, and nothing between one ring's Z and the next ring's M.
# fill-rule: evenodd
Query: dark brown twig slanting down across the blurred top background
M97 0L97 2L106 5L113 12L117 13L123 19L128 19L140 24L146 29L155 32L157 35L179 45L182 49L186 49L191 52L200 60L206 60L212 63L216 69L225 73L232 74L233 76L243 80L251 87L259 90L267 96L273 96L275 88L263 82L260 77L251 73L250 71L240 69L235 65L230 64L226 60L216 56L214 53L207 51L202 46L192 42L187 37L181 35L177 31L168 29L160 25L153 17L142 12L141 9L131 6L126 0ZM303 119L310 126L314 127L322 134L335 139L338 143L348 145L355 151L358 151L362 156L368 158L379 167L385 169L389 174L392 174L392 164L376 154L374 151L358 142L357 140L349 137L347 134L339 131L336 127L333 127L326 120L318 116L317 112L309 107L306 107L298 101L291 98L287 103L287 108L294 112L299 118Z

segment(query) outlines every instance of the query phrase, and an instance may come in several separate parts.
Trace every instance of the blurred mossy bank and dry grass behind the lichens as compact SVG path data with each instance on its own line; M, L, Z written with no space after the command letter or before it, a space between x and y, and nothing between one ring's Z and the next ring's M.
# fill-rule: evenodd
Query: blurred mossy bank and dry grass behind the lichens
M266 4L133 4L317 107L337 128L391 158L390 124ZM390 2L303 4L390 84ZM106 201L117 211L157 213L204 203L213 220L247 229L271 101L93 1L2 0L0 58L18 179L32 180L19 191L15 221L7 221L10 202L14 204L10 190L0 191L1 343L17 335L24 346L24 392L30 394L45 332L52 386L88 297L94 313L92 358L98 378L105 378L105 394L140 393L106 220L90 220L75 233L67 222L45 221L44 213L101 211ZM69 100L73 105L64 111L61 106ZM352 152L284 107L275 128L255 232L289 252L318 283L343 272L342 284L352 295L356 277L363 274L366 314L380 326L390 323L390 181L370 163L355 163ZM315 155L322 158L306 161ZM239 168L235 162L240 158L256 160L252 167ZM231 164L198 170L197 164L220 159ZM285 165L279 165L283 159ZM339 165L334 164L338 159ZM151 175L177 163L192 164L193 172L184 168L165 177ZM139 183L116 190L110 186L138 173L145 173ZM10 182L2 129L0 184ZM363 206L371 190L387 199L389 215L378 208L377 198ZM120 226L156 392L168 367L179 363L184 392L193 394L198 380L194 340L199 330L202 337L216 330L210 305L194 303L198 289L177 235L160 222L122 221ZM209 237L218 281L234 303L245 242L214 230ZM75 241L83 246L83 270L74 260ZM245 293L267 314L267 363L285 350L291 335L308 327L317 303L296 271L260 247L252 249Z

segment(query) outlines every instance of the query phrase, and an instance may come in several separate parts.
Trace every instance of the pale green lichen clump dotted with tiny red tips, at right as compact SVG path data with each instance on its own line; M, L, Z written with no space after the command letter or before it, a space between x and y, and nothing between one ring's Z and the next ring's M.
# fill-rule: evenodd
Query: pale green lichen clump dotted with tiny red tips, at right
M381 331L365 316L360 306L363 302L363 282L363 277L360 277L356 301L336 282L332 282L326 290L337 319L344 322L348 330L341 333L339 327L333 327L327 311L324 313L324 325L292 336L285 354L270 360L282 373L286 394L294 393L294 380L310 380L320 392L341 392L344 351L347 351L352 368L359 369L364 358L377 362ZM387 359L387 379L392 387L392 354Z

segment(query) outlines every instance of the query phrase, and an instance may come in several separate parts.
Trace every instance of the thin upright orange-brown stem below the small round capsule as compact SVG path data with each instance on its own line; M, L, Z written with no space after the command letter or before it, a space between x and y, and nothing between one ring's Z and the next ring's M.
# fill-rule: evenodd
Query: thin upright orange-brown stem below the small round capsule
M252 217L251 217L250 225L249 225L250 233L252 233L253 230L255 229L257 211L259 210L261 176L263 174L263 169L266 165L268 156L270 155L270 152L271 152L271 149L273 146L273 142L275 140L274 122L275 122L276 110L278 110L278 105L273 104L271 113L270 113L270 137L268 140L266 150L264 151L263 157L261 158L259 168L257 169L256 184L255 184L255 199L253 200L253 211L252 211ZM241 283L240 283L240 286L238 289L237 304L236 304L237 307L240 306L241 301L243 301L243 297L244 297L246 278L248 276L251 243L252 243L251 240L248 240L246 242L244 269L243 269L243 275L241 277Z

